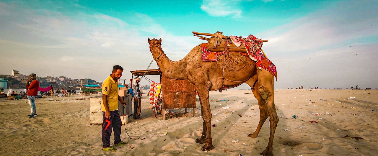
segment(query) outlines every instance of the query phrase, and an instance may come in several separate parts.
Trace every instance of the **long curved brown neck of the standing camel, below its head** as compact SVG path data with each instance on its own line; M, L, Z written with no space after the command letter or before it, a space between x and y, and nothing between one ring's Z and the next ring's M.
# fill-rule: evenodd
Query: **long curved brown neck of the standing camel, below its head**
M153 59L156 60L160 66L161 72L169 79L187 79L185 68L187 65L187 59L181 59L179 61L172 61L164 54L164 51L160 46L151 46L150 51ZM157 59L156 59L157 58Z

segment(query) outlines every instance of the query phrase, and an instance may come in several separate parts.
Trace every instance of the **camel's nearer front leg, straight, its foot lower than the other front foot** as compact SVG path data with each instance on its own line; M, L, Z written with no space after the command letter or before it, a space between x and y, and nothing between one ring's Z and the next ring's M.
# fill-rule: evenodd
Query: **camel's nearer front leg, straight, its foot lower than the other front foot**
M202 113L202 119L204 120L203 130L205 130L206 127L206 135L202 134L202 137L206 137L205 139L205 145L201 148L203 151L210 151L214 149L214 146L212 145L212 138L211 138L211 110L210 110L210 104L209 104L209 87L211 82L208 81L206 85L196 85L198 96L200 97L201 101L201 111ZM204 131L203 131L204 132Z

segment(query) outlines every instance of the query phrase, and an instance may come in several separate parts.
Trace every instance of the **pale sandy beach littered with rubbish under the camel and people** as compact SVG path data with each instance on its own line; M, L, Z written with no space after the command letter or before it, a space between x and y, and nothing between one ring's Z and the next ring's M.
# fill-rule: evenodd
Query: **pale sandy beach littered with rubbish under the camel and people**
M104 152L101 125L89 124L89 100L78 100L81 97L37 99L38 116L31 119L27 116L30 113L27 100L0 100L0 155L256 156L268 144L269 120L257 138L247 137L259 122L257 100L250 90L210 92L212 124L217 126L211 131L215 149L207 153L201 151L203 144L195 143L202 131L198 101L196 117L188 110L187 116L162 120L161 115L152 118L149 99L144 94L141 114L144 120L129 117L125 125L128 134L139 139L128 140L122 126L121 138L129 144L115 147L117 151ZM229 101L214 102L221 99ZM274 155L378 153L378 90L274 90L274 99L280 116L273 142ZM345 135L363 139L343 138ZM112 135L112 144L113 139ZM237 139L238 142L232 142Z

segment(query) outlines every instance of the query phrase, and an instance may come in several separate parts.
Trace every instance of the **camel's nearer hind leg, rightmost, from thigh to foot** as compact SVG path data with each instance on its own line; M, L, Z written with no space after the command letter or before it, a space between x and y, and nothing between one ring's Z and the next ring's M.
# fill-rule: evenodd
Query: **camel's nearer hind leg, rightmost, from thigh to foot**
M279 120L276 107L274 106L274 77L265 69L257 69L257 79L259 79L259 88L256 90L260 92L261 98L265 101L265 104L263 105L266 105L268 110L270 124L269 142L265 150L260 154L264 156L273 156L273 137Z

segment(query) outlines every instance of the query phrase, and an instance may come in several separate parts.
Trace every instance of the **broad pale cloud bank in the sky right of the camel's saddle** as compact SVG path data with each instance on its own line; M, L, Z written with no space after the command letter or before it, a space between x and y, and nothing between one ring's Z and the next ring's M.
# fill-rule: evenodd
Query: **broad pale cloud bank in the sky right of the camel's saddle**
M378 13L370 12L376 9L377 5L341 2L256 34L269 40L263 49L277 66L275 87L346 88L358 83L361 88L378 88L378 43L358 42L378 35Z

